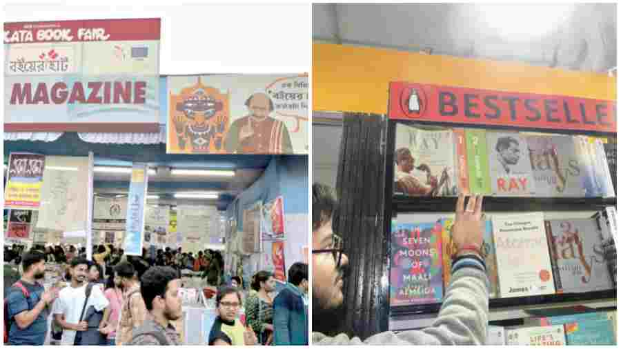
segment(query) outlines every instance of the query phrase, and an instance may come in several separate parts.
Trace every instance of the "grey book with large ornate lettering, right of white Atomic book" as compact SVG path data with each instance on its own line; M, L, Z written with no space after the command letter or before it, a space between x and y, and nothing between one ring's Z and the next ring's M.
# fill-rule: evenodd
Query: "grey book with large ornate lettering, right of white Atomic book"
M545 223L557 293L613 288L595 219Z

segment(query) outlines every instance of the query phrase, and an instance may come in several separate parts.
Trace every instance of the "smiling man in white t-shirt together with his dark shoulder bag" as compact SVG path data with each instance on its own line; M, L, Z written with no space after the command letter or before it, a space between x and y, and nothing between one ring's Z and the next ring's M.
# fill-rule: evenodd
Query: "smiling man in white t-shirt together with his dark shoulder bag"
M71 283L54 304L55 320L63 328L63 346L105 344L99 332L108 323L110 302L101 288L88 283L88 265L89 261L79 257L71 261Z

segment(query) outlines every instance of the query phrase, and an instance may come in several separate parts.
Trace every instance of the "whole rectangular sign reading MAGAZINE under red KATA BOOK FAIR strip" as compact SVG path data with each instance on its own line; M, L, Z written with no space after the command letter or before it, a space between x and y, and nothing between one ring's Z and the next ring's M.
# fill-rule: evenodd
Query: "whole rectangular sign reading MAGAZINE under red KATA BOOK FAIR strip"
M4 23L4 130L157 132L160 19Z

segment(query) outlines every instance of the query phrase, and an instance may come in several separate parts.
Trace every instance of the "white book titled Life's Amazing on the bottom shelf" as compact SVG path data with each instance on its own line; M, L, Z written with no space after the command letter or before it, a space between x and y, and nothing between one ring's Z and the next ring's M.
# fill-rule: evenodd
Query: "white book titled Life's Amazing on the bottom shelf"
M565 330L562 325L544 327L507 328L509 346L564 346Z

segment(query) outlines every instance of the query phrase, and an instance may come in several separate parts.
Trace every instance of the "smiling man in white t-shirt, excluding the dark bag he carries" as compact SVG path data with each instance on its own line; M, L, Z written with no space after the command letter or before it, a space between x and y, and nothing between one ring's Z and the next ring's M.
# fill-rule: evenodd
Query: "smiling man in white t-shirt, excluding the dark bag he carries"
M86 286L88 272L88 261L86 259L74 258L71 261L71 283L59 292L59 297L54 303L54 317L57 323L63 328L63 338L61 345L72 346L75 343L77 331L88 330L86 321L81 321L82 308L86 301ZM103 320L99 324L99 328L106 326L108 317L110 316L110 302L103 295L101 288L93 287L88 297L86 309L90 306L97 311L104 310Z

